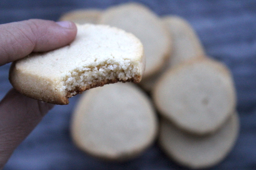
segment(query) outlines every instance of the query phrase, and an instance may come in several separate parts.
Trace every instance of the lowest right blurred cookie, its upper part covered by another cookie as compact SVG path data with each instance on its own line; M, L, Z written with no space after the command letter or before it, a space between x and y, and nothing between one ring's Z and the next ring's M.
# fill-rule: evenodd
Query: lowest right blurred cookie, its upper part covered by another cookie
M192 168L209 168L222 161L232 150L239 134L239 116L233 113L214 134L196 136L160 121L160 146L177 163Z

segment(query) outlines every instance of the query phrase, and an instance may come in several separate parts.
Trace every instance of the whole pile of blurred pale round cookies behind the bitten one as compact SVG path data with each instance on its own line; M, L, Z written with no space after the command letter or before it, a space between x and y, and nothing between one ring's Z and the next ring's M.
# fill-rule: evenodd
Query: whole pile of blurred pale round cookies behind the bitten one
M81 96L71 124L79 148L123 161L158 137L166 155L185 167L212 167L227 156L239 133L233 78L223 63L207 57L186 20L159 17L137 3L72 11L61 20L131 32L146 58L139 86L116 83Z

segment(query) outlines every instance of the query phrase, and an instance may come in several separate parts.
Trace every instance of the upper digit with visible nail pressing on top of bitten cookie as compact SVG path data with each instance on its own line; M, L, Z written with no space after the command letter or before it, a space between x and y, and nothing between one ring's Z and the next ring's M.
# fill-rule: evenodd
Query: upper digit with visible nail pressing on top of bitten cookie
M69 44L76 37L76 25L69 21L25 20L0 25L0 65L31 52L50 51Z

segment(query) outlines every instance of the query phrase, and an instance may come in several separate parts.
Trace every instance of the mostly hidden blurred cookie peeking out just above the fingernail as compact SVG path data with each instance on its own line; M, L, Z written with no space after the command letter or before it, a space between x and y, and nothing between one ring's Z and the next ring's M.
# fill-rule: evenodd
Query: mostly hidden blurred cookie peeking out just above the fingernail
M60 21L73 21L78 24L97 24L102 11L99 9L78 9L61 16Z

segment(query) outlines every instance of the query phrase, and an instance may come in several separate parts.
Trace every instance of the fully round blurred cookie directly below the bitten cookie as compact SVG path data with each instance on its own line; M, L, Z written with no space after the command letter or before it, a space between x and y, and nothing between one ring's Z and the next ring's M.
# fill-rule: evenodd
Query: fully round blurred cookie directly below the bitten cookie
M73 113L71 133L86 153L124 161L154 141L157 125L148 96L131 83L116 83L83 94Z

